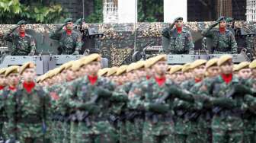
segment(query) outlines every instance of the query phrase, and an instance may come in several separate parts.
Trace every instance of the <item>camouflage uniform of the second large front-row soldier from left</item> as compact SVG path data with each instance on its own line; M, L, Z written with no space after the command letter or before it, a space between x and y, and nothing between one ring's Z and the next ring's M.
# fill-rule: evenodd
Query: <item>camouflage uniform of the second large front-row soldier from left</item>
M98 78L92 85L86 76L64 91L62 104L78 120L78 143L116 141L117 134L108 121L110 92L114 86L104 78Z

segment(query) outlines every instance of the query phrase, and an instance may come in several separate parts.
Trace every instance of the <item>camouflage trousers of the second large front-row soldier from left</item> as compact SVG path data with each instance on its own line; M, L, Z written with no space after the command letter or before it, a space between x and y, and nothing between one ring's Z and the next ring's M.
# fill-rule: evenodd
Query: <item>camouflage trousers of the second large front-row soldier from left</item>
M78 133L76 135L77 143L115 143L118 140L118 134L107 121L78 122Z

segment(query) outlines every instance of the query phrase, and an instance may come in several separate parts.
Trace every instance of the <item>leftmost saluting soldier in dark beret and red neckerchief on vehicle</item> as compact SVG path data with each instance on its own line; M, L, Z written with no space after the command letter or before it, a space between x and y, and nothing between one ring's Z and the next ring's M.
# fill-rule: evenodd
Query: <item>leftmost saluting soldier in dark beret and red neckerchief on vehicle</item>
M33 37L26 33L26 21L19 21L7 35L5 40L12 43L12 56L33 56L36 52L36 44ZM18 28L18 33L14 30Z

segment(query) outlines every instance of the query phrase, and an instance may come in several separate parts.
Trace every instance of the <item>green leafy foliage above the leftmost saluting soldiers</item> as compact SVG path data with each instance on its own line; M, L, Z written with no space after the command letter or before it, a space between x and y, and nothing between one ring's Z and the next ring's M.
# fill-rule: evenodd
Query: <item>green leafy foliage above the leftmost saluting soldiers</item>
M60 5L46 4L42 0L21 2L19 0L0 1L0 24L16 24L20 20L26 20L30 24L56 23L66 14Z

